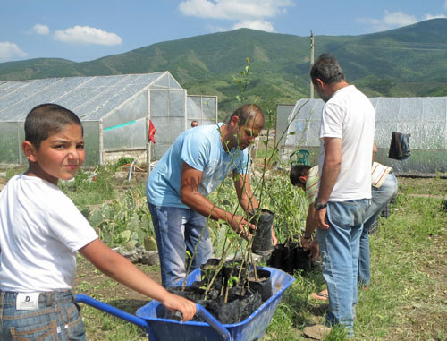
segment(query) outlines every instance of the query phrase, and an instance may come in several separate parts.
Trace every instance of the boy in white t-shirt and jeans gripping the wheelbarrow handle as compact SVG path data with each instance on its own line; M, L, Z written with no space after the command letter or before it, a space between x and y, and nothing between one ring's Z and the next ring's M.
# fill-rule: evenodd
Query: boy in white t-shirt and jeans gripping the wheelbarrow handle
M79 117L55 104L34 107L22 149L28 169L0 192L0 339L85 340L72 294L77 251L105 275L190 320L195 304L168 293L102 243L57 187L85 159Z

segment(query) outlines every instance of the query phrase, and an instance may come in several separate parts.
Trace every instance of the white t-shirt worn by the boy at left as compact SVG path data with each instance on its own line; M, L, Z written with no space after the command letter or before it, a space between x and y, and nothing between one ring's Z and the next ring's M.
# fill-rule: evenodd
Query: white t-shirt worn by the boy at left
M15 175L0 192L0 289L71 290L77 251L97 233L63 192Z

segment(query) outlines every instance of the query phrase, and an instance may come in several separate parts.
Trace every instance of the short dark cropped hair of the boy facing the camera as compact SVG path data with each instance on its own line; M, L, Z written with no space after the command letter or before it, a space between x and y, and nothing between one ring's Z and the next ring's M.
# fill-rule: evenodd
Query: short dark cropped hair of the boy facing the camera
M69 124L78 124L82 128L80 118L71 110L53 103L38 105L31 109L25 119L25 140L39 149L42 141L55 132L61 132Z

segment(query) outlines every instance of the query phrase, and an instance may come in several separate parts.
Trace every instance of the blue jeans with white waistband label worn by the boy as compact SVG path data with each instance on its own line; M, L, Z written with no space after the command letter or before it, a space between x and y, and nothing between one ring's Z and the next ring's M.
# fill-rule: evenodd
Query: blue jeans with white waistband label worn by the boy
M16 309L17 293L0 291L0 340L86 340L72 293L41 293L38 309Z

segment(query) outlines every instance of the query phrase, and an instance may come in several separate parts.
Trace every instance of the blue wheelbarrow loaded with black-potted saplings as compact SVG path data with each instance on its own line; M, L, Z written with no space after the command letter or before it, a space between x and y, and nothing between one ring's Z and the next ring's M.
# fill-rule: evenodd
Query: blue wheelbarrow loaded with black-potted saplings
M270 271L272 279L272 296L253 311L249 317L240 323L222 324L215 319L205 308L197 305L197 315L206 322L188 321L182 322L159 317L157 309L161 303L151 301L139 308L136 315L121 311L111 305L97 301L87 295L77 294L76 301L86 303L101 311L110 313L122 320L127 320L139 327L145 328L150 341L251 341L257 340L266 332L268 324L273 318L274 311L280 303L283 292L295 280L283 270L263 267ZM187 277L187 286L192 286L194 281L200 280L200 269L195 269Z

